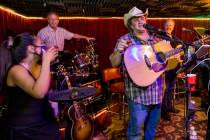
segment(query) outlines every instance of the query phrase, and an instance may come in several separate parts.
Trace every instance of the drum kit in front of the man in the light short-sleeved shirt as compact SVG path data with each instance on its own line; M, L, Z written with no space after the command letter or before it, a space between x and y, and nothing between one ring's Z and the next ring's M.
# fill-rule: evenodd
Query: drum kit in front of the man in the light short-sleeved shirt
M87 77L97 77L99 61L94 50L95 44L90 42L83 52L77 50L74 53L70 51L59 52L59 62L52 66L52 73L56 82L54 89L66 89L64 77L56 69L59 64L65 66L73 86L81 86L81 81Z

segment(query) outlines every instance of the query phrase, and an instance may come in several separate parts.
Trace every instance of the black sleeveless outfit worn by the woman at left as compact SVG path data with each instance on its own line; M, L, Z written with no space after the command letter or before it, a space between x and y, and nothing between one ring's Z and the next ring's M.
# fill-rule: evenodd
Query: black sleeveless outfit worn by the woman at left
M59 128L47 96L36 99L19 87L10 86L6 86L6 93L6 140L60 140Z

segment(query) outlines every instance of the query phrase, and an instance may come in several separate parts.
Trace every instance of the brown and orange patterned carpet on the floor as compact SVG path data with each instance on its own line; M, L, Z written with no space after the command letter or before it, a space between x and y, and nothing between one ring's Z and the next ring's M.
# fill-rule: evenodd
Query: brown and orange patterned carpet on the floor
M196 108L200 105L200 98L193 98L196 102ZM184 100L181 98L176 100L175 106L179 113L171 113L171 121L160 121L157 128L155 140L183 140L184 131ZM127 127L128 116L126 116L125 124L119 120L119 116L112 115L112 123L103 131L104 135L109 140L126 140L125 130ZM194 126L199 140L205 138L207 117L204 111L196 111L193 119L190 121L190 126ZM102 139L101 139L102 140Z

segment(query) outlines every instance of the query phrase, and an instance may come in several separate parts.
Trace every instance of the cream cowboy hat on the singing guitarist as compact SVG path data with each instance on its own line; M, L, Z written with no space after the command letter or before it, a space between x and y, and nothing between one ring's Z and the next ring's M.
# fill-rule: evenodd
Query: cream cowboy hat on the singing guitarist
M128 27L128 21L132 17L141 17L141 16L148 16L148 9L146 9L146 12L143 13L137 7L133 7L128 13L124 14L124 24L125 24L125 26Z

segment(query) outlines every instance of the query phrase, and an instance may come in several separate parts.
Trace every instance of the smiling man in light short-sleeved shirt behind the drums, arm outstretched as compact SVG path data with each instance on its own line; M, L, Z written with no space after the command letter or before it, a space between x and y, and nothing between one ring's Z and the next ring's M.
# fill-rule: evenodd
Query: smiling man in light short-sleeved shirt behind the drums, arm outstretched
M93 37L87 37L84 35L72 33L62 27L58 27L59 24L59 15L56 12L50 12L47 15L48 26L42 28L37 36L43 40L43 43L47 46L57 46L59 51L64 50L64 40L71 40L72 38L76 39L85 39L87 42L95 40Z

